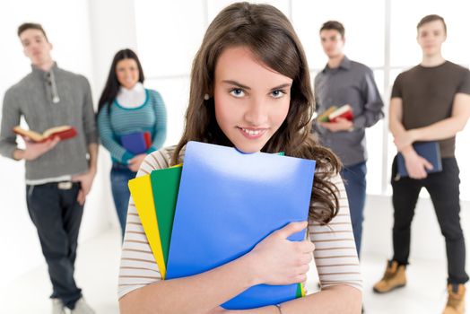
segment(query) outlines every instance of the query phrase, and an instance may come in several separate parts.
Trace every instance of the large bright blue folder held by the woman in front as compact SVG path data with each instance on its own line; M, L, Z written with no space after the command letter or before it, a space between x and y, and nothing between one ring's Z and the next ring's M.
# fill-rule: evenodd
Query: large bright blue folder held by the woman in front
M315 161L187 144L167 279L196 275L248 253L271 232L309 214ZM305 231L289 240L303 240ZM298 285L260 284L222 304L245 310L289 301Z

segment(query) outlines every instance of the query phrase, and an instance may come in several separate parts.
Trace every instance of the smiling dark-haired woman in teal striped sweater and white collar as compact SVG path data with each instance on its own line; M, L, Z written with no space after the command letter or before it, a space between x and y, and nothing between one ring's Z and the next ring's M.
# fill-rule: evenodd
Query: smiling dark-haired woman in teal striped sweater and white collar
M145 89L143 83L144 72L135 52L117 51L98 106L101 144L113 161L111 189L123 236L130 196L127 181L135 178L148 153L161 148L167 133L166 109L161 95ZM151 143L139 147L139 143L145 143L145 133L150 135ZM123 136L133 144L123 142Z

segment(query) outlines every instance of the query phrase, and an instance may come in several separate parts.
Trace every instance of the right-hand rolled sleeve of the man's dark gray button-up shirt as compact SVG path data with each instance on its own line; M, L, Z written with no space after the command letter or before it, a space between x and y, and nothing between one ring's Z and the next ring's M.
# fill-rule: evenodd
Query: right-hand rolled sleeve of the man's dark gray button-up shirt
M381 118L384 118L384 102L380 97L379 89L374 80L374 74L370 69L364 75L361 85L365 104L362 114L354 117L354 126L370 127L375 125Z

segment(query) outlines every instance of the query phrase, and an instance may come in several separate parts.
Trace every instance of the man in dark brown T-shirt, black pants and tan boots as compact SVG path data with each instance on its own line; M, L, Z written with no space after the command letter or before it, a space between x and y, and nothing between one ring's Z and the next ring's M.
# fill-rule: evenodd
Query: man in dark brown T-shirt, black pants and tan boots
M444 19L434 14L424 16L417 25L422 62L399 74L393 85L389 127L408 176L398 173L396 156L392 164L393 257L373 289L387 293L406 285L414 209L422 188L426 188L446 240L448 302L442 313L464 314L469 276L455 148L456 135L470 118L470 71L442 56L446 39ZM428 155L420 155L413 146L420 142L437 142L441 170L428 173L433 170Z

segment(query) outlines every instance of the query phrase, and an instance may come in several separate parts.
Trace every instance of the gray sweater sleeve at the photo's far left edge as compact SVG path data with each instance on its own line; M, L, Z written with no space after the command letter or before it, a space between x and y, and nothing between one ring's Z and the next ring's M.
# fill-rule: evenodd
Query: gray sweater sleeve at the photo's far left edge
M4 157L13 159L13 153L17 148L13 127L20 124L21 117L22 112L19 108L19 101L14 98L12 90L8 90L4 94L2 126L0 130L0 154Z

